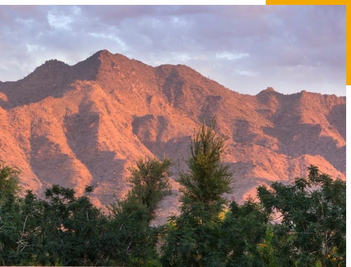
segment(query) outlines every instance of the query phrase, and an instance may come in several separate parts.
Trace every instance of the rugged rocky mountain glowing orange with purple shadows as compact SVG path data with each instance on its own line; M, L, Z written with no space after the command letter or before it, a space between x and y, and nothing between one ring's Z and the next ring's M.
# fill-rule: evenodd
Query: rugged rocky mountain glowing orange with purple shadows
M52 184L78 195L91 185L93 203L104 207L113 191L129 191L138 157L166 155L185 168L194 128L214 115L229 136L223 160L235 171L238 201L260 184L305 176L310 164L345 179L345 97L271 87L242 95L187 66L151 67L107 50L0 82L0 160L17 166L23 188L40 197ZM177 205L176 196L166 199L161 218Z

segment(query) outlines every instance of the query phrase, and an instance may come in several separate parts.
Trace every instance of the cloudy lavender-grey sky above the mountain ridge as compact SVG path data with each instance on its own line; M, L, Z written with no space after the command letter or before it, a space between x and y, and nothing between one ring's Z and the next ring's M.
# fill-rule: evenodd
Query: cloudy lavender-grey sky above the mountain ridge
M1 81L103 49L243 94L346 94L345 5L0 5Z

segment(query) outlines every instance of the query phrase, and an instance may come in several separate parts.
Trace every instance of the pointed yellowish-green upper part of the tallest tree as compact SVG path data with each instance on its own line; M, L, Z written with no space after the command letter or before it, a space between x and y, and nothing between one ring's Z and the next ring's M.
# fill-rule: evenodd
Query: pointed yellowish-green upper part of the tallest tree
M223 194L231 193L230 184L233 182L229 166L221 161L227 140L228 136L217 133L215 117L208 127L203 123L198 131L194 130L186 160L189 170L180 171L177 180L183 193L180 198L182 210L196 202L202 202L207 207L227 203Z

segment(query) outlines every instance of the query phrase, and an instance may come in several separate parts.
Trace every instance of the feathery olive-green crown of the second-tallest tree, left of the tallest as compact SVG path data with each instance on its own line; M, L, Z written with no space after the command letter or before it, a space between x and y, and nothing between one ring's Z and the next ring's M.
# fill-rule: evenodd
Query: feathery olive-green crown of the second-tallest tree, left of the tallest
M140 158L136 168L129 168L131 176L128 182L133 188L127 197L136 197L141 200L148 209L149 221L156 217L156 210L160 208L164 197L172 194L172 187L169 184L169 177L172 175L169 171L171 165L171 160L166 157L163 161L154 157L145 160Z

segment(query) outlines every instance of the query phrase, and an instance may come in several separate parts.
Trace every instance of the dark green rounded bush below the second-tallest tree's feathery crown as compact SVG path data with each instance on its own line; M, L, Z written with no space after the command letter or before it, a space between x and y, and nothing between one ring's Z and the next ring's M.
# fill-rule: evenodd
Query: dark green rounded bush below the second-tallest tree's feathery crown
M110 219L105 242L112 264L148 266L158 259L158 229L149 226L149 210L140 198L129 196L110 206Z

